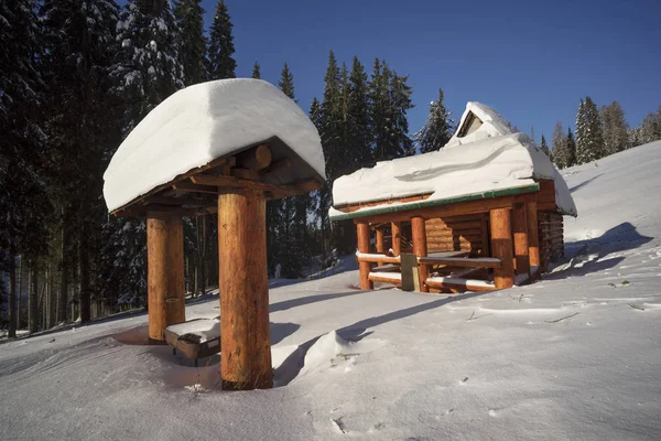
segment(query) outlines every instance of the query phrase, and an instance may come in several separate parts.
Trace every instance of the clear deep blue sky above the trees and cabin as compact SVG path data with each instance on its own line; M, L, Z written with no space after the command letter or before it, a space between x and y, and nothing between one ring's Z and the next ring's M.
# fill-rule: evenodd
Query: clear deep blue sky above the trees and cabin
M466 101L494 106L522 131L550 141L574 125L578 100L617 99L631 126L661 105L661 0L226 0L237 76L278 83L283 62L308 110L323 94L333 50L368 73L375 57L410 75L411 131L445 92L458 119ZM217 0L203 0L207 24Z

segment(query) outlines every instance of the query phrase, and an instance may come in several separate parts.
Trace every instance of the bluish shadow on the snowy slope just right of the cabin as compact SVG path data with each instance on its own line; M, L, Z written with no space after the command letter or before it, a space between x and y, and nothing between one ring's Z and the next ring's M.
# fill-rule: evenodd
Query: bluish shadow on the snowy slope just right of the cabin
M565 244L565 258L555 262L554 270L544 275L543 279L559 280L610 269L625 260L625 256L618 252L638 248L653 239L639 234L631 223L621 223L599 237ZM611 254L615 256L608 258Z

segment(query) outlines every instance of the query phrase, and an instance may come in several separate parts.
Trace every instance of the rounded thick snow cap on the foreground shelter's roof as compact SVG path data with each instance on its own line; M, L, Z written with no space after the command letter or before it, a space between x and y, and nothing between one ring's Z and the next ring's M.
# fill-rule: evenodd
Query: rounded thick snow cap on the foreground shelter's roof
M115 211L154 187L234 151L278 137L325 179L321 139L307 115L261 79L221 79L178 90L119 147L104 174Z

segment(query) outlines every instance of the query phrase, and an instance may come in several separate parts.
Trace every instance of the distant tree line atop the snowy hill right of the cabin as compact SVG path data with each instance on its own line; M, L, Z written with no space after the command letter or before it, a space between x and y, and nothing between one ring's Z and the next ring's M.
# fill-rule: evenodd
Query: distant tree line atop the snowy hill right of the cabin
M644 117L640 127L630 128L621 105L614 100L597 108L587 96L576 112L576 132L561 121L553 129L552 148L542 136L540 147L559 169L584 164L632 147L661 139L661 106Z

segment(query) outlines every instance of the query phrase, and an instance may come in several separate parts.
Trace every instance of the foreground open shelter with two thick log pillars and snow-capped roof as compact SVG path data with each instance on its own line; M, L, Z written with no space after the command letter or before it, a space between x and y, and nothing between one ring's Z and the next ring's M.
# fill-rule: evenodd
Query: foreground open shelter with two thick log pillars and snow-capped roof
M140 122L104 179L111 214L147 218L151 343L186 321L182 217L217 213L223 388L272 387L266 201L325 181L305 114L262 80L191 86Z

